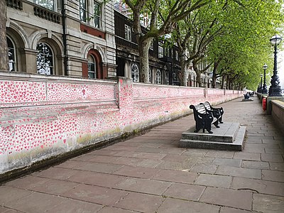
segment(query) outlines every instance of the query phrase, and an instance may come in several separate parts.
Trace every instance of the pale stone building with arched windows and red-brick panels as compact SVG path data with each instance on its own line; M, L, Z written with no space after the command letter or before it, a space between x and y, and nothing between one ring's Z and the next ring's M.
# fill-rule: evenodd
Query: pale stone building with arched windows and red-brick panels
M9 71L116 75L114 6L102 0L6 0Z

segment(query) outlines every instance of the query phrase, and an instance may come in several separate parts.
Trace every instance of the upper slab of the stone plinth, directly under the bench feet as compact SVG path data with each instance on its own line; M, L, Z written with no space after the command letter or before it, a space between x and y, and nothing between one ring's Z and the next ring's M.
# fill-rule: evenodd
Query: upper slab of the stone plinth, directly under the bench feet
M233 143L236 138L236 133L239 130L239 123L224 122L219 124L220 128L216 128L212 125L213 133L202 133L202 129L195 133L195 126L192 126L189 130L182 133L182 139L191 141L216 141L223 143Z

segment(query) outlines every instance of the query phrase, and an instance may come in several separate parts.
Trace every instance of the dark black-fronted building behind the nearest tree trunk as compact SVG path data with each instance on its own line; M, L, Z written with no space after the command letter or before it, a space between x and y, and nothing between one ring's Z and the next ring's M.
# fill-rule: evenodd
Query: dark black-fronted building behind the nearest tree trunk
M138 45L126 12L124 7L115 6L116 73L140 82ZM146 32L146 28L143 31ZM179 85L179 73L178 48L154 39L149 50L149 81L152 84Z

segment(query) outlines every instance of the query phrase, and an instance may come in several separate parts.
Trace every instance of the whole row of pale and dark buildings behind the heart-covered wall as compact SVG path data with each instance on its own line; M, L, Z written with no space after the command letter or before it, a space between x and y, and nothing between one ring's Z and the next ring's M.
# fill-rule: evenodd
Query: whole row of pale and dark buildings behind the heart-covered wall
M103 0L6 0L9 71L140 82L139 55L129 10ZM147 26L148 18L144 18ZM143 28L146 32L146 27ZM153 84L180 85L178 48L155 39L149 50ZM187 70L187 86L196 74ZM202 75L202 87L211 77Z

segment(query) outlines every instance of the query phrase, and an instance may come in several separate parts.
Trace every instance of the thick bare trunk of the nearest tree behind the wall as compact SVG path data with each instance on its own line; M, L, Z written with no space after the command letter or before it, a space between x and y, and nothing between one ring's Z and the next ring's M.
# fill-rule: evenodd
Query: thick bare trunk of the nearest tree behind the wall
M140 60L140 82L151 83L149 81L149 48L152 38L138 40L139 60Z

